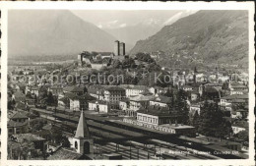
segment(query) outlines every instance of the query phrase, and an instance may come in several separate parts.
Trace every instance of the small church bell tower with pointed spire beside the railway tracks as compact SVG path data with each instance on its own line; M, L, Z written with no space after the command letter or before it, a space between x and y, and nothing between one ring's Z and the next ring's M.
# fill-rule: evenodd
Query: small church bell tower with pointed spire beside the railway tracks
M75 138L73 138L72 146L81 154L94 153L94 140L90 137L89 129L85 119L84 111L81 111Z

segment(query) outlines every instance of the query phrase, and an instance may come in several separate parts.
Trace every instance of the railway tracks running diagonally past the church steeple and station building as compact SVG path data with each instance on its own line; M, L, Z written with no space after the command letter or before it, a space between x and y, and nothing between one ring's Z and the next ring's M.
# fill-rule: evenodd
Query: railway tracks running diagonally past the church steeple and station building
M53 121L61 126L71 129L70 133L74 134L77 128L79 115L72 114L66 115L63 113L53 113L51 111L35 109L40 113L40 117L49 121ZM172 137L157 137L154 138L154 134L151 131L143 131L141 128L134 128L132 126L125 126L122 123L115 123L114 121L107 120L104 117L98 117L96 115L87 115L87 124L89 130L94 138L96 138L97 144L101 144L102 150L116 151L115 145L112 143L118 143L119 147L124 150L130 150L130 146L139 150L142 154L148 153L160 156L164 159L221 159L227 158L227 156L213 155L206 151L212 150L209 144L201 142L193 142L193 140L186 140L184 138ZM64 128L62 128L64 130ZM160 134L160 136L162 136ZM163 138L163 139L162 139ZM186 142L188 141L188 142ZM190 145L190 143L196 143L196 145ZM150 145L149 145L150 144ZM201 148L203 147L203 148ZM128 149L129 148L129 149ZM202 150L203 149L203 150ZM214 149L215 150L215 149ZM132 150L133 151L133 150ZM120 151L119 151L120 152ZM123 157L127 157L127 154L123 154ZM137 156L131 154L133 157ZM120 152L121 154L121 152ZM129 156L130 157L130 156ZM145 155L140 156L142 159ZM233 158L239 158L239 155L232 155ZM130 159L130 158L129 158Z

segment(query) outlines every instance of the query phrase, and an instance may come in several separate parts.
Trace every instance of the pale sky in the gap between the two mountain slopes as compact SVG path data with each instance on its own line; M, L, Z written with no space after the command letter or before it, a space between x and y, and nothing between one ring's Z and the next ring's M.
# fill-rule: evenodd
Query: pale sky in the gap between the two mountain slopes
M196 11L181 10L140 10L140 11L109 11L109 10L76 10L71 11L83 20L93 23L98 28L125 28L135 26L140 23L164 24L171 18L177 18L187 13L192 14Z

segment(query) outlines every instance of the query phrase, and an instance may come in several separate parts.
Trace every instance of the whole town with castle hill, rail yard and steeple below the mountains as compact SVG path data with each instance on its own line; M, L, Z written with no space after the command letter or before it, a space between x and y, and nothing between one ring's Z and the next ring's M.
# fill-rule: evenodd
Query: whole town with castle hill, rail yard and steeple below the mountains
M248 158L248 73L163 67L166 52L113 42L8 66L8 159Z

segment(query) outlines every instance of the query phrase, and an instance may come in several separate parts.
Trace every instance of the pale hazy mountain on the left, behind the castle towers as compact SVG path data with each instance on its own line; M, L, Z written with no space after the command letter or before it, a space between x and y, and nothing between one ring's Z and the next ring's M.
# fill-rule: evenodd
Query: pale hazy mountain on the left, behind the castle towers
M65 10L10 11L8 55L76 55L84 50L113 51L115 38Z

